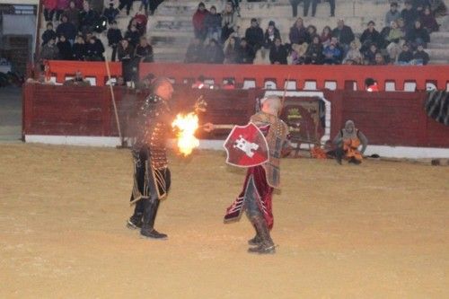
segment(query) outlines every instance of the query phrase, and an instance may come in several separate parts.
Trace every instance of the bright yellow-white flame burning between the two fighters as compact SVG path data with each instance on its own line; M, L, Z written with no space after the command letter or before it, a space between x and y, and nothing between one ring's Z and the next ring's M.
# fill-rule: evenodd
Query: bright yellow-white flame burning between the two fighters
M187 115L180 113L172 122L172 128L179 128L176 137L180 153L184 156L191 154L192 150L199 145L199 140L195 137L198 127L198 115L193 112Z

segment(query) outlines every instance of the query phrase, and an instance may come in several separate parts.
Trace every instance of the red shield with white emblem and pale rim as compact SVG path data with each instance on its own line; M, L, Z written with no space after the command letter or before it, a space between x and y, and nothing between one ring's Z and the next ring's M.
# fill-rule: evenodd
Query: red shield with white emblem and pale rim
M257 166L269 161L267 139L256 125L235 126L225 141L226 163L238 167Z

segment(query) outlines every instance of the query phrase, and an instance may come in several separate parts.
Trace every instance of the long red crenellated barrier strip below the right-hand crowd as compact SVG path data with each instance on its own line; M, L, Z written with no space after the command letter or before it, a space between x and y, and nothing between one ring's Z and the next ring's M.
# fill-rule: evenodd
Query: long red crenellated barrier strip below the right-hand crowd
M256 87L263 88L265 81L274 79L282 89L287 79L296 82L298 90L304 89L306 81L316 82L316 89L323 90L326 82L335 82L337 89L345 89L345 82L357 83L357 90L365 90L365 78L374 78L381 90L385 83L394 83L397 91L405 83L416 83L417 90L426 90L427 83L445 90L449 81L449 66L255 66L255 65L204 65L204 64L150 64L139 66L140 76L147 74L167 76L182 84L184 79L204 75L221 84L223 79L233 77L237 84L254 80Z

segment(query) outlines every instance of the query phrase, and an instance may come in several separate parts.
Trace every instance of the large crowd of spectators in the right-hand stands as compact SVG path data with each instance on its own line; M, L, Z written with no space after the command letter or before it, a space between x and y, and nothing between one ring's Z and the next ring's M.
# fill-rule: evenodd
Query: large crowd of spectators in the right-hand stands
M360 36L339 19L333 29L321 32L313 24L297 18L288 32L288 42L281 39L276 23L264 30L257 19L240 33L237 21L239 1L229 1L222 13L204 3L192 17L195 37L187 49L186 63L210 64L279 64L279 65L427 65L425 51L430 33L438 31L436 16L445 14L445 5L438 0L406 0L403 9L391 2L385 14L385 26L376 28L368 22ZM295 1L290 1L295 11ZM308 4L311 2L308 1ZM317 1L312 1L314 15ZM330 14L335 4L330 3ZM304 3L304 15L308 6Z

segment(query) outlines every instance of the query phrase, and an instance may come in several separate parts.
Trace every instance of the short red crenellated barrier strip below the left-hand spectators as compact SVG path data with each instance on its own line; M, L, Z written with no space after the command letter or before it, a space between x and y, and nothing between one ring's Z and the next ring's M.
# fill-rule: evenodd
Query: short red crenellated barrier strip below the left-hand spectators
M47 64L49 75L55 75L57 77L57 83L64 83L66 76L74 76L76 71L80 71L84 77L95 77L97 86L104 86L108 81L104 61L48 60ZM120 62L109 62L109 66L112 77L121 75Z

